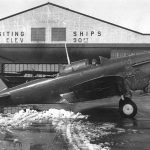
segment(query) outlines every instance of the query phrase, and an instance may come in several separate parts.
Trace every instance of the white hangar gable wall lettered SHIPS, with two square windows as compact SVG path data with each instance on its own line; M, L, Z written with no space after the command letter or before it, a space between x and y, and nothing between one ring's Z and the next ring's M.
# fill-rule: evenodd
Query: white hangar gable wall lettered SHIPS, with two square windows
M0 20L0 43L149 43L150 36L47 3Z

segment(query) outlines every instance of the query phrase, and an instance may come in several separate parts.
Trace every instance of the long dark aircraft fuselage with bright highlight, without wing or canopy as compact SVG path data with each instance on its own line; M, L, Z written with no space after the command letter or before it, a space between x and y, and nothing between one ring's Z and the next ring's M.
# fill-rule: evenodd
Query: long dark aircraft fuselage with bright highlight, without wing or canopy
M5 105L59 103L60 94L70 92L70 89L79 83L112 75L126 78L135 73L133 68L137 68L139 75L143 76L144 74L144 78L140 77L145 81L142 81L143 88L149 80L149 66L150 54L109 60L104 64L98 66L91 65L85 69L72 71L54 79L34 80L3 90L0 92L0 95L5 98L3 100L0 99L0 101L1 104Z

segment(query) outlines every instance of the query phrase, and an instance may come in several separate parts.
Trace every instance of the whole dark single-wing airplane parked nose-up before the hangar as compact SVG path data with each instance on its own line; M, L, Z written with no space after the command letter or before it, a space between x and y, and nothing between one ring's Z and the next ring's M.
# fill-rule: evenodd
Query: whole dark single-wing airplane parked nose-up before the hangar
M67 55L68 58L68 55ZM150 53L89 64L87 59L62 66L57 77L33 80L0 92L0 106L20 104L84 103L117 95L123 117L134 117L137 106L131 100L132 89L145 88L150 79ZM108 99L107 99L108 100ZM109 103L109 100L108 100ZM92 107L92 105L91 105Z

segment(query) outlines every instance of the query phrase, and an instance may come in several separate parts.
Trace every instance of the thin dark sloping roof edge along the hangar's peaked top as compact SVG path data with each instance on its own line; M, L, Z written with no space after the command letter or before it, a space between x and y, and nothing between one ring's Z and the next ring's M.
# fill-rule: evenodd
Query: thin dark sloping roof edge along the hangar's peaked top
M34 9L37 9L37 8L40 8L40 7L43 7L45 5L52 5L52 6L55 6L55 7L58 7L58 8L61 8L61 9L65 9L65 10L68 10L68 11L71 11L73 13L77 13L79 15L82 15L82 16L85 16L85 17L89 17L91 19L94 19L94 20L97 20L97 21L101 21L101 22L104 22L104 23L107 23L109 25L112 25L112 26L116 26L116 27L119 27L119 28L122 28L124 30L128 30L128 31L131 31L131 32L134 32L134 33L137 33L137 34L140 34L140 35L150 35L150 33L141 33L141 32L138 32L138 31L135 31L135 30L132 30L132 29L129 29L129 28L126 28L126 27L123 27L123 26L120 26L120 25L117 25L117 24L114 24L114 23L111 23L111 22L108 22L108 21L105 21L105 20L102 20L102 19L98 19L96 17L93 17L93 16L90 16L90 15L87 15L87 14L84 14L84 13L81 13L81 12L78 12L78 11L75 11L75 10L72 10L72 9L69 9L67 7L63 7L63 6L60 6L60 5L57 5L57 4L54 4L54 3L50 3L50 2L47 2L45 4L42 4L42 5L38 5L38 6L35 6L35 7L32 7L30 9L27 9L27 10L24 10L24 11L21 11L21 12L18 12L18 13L15 13L13 15L9 15L7 17L4 17L4 18L1 18L0 21L2 20L5 20L5 19L9 19L11 17L14 17L14 16L17 16L17 15L20 15L20 14L23 14L25 12L28 12L28 11L31 11L31 10L34 10Z

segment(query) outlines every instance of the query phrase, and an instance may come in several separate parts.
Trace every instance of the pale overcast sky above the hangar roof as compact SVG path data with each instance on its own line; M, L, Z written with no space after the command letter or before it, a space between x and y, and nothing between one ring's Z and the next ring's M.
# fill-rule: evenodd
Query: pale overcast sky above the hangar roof
M150 33L150 0L0 0L0 18L47 2Z

